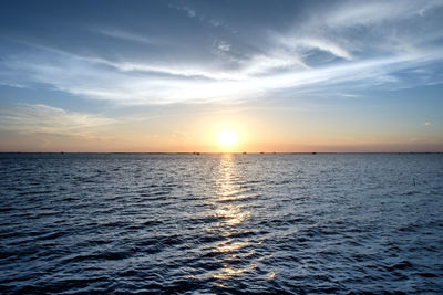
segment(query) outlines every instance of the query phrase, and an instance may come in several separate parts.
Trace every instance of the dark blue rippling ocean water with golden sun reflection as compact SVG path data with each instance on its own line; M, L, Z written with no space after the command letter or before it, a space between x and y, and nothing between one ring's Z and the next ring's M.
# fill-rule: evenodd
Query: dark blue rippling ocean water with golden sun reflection
M1 154L0 293L443 293L443 155Z

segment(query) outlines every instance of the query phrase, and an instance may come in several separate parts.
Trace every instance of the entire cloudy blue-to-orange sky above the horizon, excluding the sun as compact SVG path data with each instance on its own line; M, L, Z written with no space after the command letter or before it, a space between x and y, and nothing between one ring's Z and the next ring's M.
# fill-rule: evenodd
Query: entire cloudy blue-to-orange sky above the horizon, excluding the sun
M443 151L443 0L3 0L0 151Z

